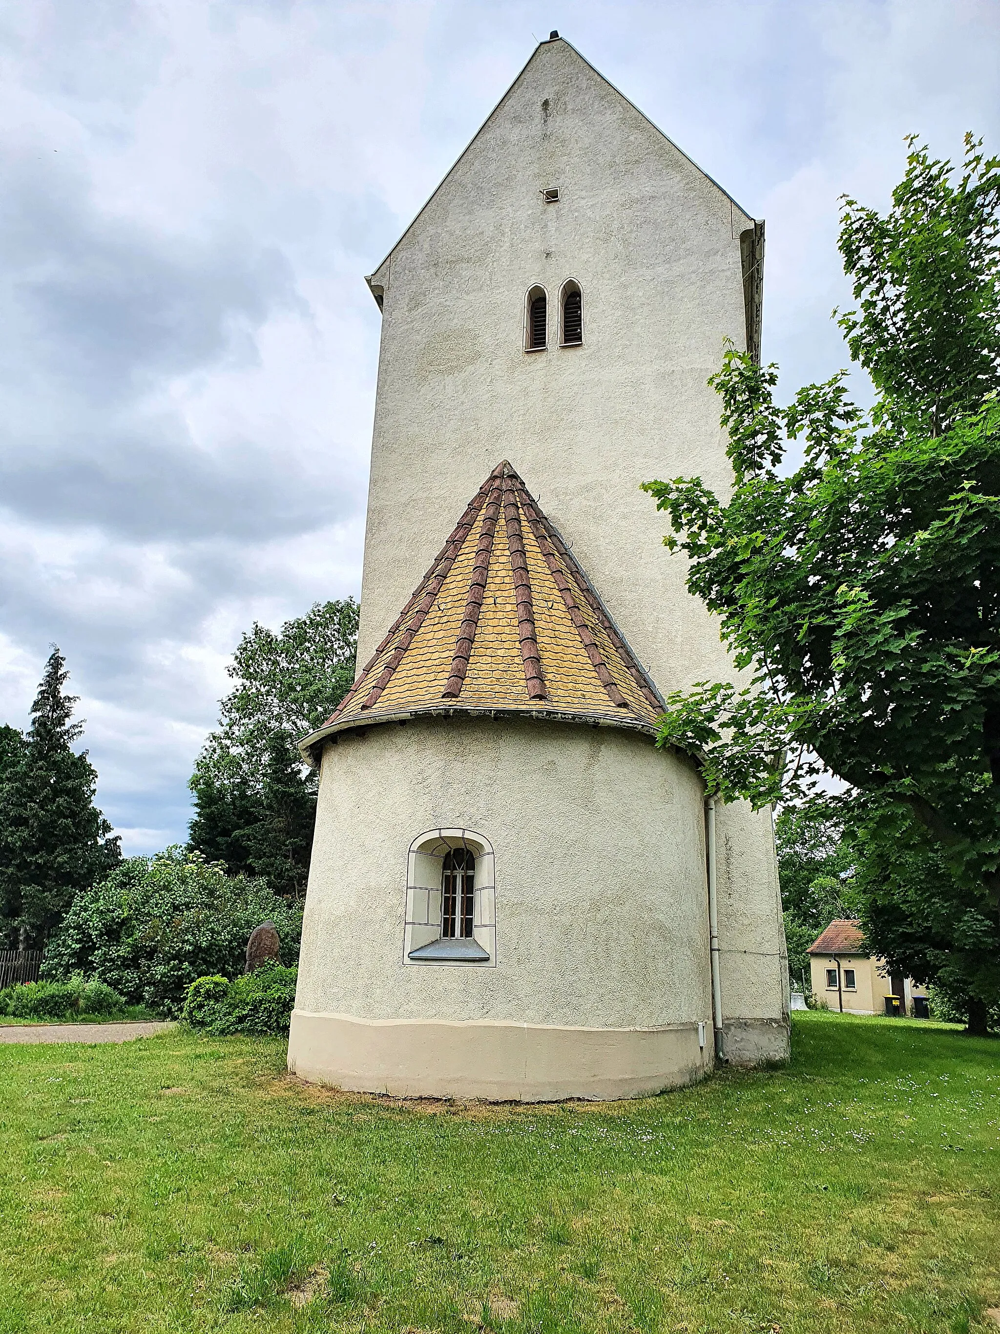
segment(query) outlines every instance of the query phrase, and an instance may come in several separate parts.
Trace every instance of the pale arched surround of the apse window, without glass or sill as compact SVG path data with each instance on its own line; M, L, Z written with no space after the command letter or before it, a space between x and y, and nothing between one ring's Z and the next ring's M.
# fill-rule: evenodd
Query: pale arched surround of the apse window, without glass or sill
M467 847L476 858L472 902L472 939L487 959L411 959L412 950L443 939L441 870L448 851ZM403 963L411 968L496 967L496 876L493 846L475 830L444 827L425 830L409 844L407 855L407 902Z

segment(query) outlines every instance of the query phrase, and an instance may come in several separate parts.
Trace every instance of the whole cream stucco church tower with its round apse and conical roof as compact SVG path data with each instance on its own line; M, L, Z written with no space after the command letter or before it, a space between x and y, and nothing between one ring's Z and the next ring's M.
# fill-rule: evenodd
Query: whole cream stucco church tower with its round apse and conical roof
M359 675L320 767L289 1069L616 1098L788 1054L768 811L655 746L732 676L652 478L731 483L763 224L556 33L368 279L383 317Z

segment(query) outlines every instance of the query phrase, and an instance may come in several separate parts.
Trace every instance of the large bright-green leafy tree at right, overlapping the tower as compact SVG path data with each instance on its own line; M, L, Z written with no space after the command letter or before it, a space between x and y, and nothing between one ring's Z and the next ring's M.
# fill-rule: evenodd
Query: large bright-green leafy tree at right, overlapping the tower
M859 304L840 324L873 411L848 400L845 372L777 407L776 368L729 348L711 382L728 503L697 478L647 484L688 587L752 671L671 696L661 740L757 806L837 775L852 836L887 872L877 894L859 874L871 948L919 980L947 974L985 1031L1000 998L1000 160L971 137L957 173L909 149L888 213L845 200L841 217ZM788 471L791 442L804 458ZM935 874L904 887L920 858Z

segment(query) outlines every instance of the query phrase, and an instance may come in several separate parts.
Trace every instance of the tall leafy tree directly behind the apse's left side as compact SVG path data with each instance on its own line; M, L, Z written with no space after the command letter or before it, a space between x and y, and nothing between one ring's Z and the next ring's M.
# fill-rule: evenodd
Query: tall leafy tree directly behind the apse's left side
M233 654L235 688L195 764L188 847L232 872L301 898L317 776L297 742L333 712L355 679L357 603L316 603L281 630L256 622Z

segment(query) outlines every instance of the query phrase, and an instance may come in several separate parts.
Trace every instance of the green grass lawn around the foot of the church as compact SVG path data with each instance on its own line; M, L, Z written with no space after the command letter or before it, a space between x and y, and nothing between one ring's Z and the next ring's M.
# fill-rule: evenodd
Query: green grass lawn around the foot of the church
M996 1331L1000 1042L793 1021L788 1067L597 1106L0 1047L0 1330Z

